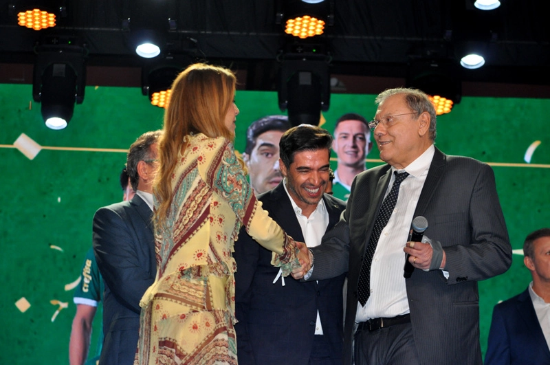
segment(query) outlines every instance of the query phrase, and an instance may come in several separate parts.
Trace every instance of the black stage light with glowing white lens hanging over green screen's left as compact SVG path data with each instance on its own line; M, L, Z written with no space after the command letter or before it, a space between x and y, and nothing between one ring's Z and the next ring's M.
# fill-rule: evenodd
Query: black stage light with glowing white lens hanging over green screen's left
M74 104L82 104L86 86L87 50L77 38L51 36L37 46L32 97L50 129L64 129Z

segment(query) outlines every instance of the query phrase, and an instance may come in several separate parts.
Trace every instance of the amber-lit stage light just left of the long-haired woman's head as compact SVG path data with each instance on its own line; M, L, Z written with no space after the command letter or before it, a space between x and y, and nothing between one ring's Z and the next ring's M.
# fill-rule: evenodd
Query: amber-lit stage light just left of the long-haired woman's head
M159 66L142 68L142 93L155 107L166 108L170 102L170 87L183 67Z

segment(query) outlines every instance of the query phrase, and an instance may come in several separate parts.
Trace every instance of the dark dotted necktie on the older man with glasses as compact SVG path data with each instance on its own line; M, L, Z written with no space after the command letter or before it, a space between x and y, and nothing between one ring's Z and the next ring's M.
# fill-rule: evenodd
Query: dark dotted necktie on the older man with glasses
M363 265L361 265L358 298L362 306L365 305L366 301L369 300L369 296L371 296L371 263L373 262L373 256L376 250L376 245L378 244L378 239L380 238L382 230L388 224L391 214L393 213L393 209L395 208L395 203L397 203L399 186L401 186L401 182L408 176L406 171L403 173L397 173L397 171L395 171L394 174L395 181L393 181L393 186L391 187L390 193L382 202L382 208L380 208L380 212L378 213L378 217L374 223L371 239L369 239L369 246L366 247Z

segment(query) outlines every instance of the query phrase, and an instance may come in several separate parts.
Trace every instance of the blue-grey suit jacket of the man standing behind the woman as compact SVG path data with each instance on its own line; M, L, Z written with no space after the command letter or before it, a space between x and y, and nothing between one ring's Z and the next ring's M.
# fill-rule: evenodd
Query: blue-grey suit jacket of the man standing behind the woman
M157 272L153 212L138 195L94 216L94 254L105 283L100 364L133 364L140 300Z

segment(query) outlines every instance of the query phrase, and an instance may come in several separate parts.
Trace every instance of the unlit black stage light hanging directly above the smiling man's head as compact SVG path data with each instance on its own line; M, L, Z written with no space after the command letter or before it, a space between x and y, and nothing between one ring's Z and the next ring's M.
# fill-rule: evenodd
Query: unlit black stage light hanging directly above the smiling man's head
M281 74L278 85L278 103L281 111L288 111L292 125L318 125L321 111L330 104L330 58L311 52L318 46L300 45L309 52L287 53L281 56Z

